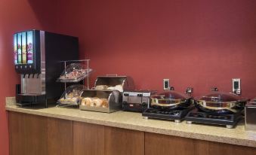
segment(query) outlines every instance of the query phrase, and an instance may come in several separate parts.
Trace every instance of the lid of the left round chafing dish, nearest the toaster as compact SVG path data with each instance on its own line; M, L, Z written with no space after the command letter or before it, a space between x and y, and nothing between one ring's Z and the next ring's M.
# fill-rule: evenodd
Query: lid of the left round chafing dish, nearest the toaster
M187 96L186 94L179 93L175 90L169 90L166 92L159 93L156 96L152 96L154 99L189 99L190 96Z

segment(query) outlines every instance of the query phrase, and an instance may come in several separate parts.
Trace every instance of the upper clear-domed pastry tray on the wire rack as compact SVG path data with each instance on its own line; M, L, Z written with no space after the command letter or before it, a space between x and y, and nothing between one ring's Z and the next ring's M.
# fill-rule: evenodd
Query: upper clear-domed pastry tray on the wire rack
M79 82L91 74L92 69L87 68L82 63L71 63L66 66L57 81L60 82Z

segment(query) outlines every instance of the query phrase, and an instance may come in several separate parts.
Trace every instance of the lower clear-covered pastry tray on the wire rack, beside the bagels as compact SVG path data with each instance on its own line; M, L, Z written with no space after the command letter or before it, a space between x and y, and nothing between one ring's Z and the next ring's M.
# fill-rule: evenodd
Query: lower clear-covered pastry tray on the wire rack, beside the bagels
M57 101L59 105L79 105L81 95L86 87L80 84L71 85L66 88L60 99Z

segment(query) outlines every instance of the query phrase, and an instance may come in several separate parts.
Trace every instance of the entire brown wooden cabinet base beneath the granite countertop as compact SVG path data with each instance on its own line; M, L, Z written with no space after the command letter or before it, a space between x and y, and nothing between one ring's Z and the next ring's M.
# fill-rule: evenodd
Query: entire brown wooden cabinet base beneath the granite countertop
M256 148L8 111L10 155L255 155Z

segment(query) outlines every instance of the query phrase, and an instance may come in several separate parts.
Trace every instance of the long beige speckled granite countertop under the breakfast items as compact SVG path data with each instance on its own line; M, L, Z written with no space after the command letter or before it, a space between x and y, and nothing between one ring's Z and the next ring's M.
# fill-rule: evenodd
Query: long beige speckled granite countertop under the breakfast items
M256 147L256 132L246 132L245 125L241 121L236 128L227 129L225 126L187 124L186 121L174 123L174 121L171 120L145 120L140 113L126 111L106 114L94 111L81 111L78 108L20 108L15 105L15 99L13 97L6 99L5 108L7 111L16 111L45 117L55 117L123 129L134 129L143 132L154 132L184 138Z

